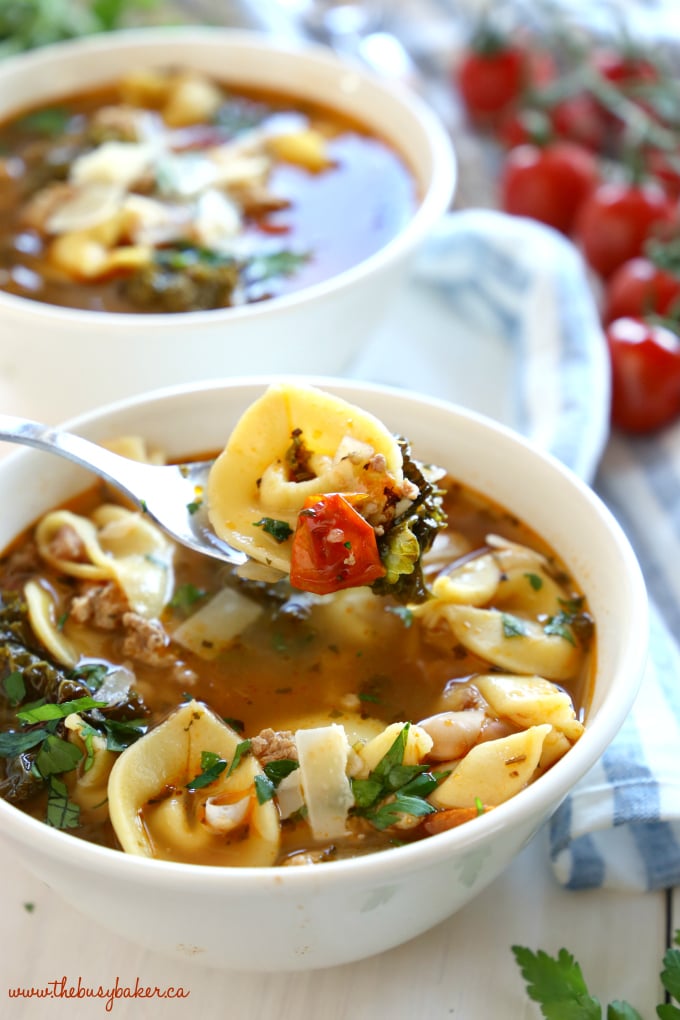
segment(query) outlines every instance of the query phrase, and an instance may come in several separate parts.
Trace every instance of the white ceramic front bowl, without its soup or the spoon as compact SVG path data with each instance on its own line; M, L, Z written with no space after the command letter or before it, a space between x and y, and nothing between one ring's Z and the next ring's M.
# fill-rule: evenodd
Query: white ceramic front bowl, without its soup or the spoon
M151 394L70 426L100 441L142 434L170 455L187 456L223 445L266 381ZM581 740L513 800L422 842L321 866L228 869L130 857L48 828L0 801L1 837L71 905L147 949L214 967L348 963L453 914L509 864L599 758L632 704L645 659L637 561L611 513L575 475L516 434L458 407L387 388L310 381L373 411L409 437L417 456L512 509L559 551L596 621L594 693ZM80 468L35 451L0 461L0 549L89 480Z

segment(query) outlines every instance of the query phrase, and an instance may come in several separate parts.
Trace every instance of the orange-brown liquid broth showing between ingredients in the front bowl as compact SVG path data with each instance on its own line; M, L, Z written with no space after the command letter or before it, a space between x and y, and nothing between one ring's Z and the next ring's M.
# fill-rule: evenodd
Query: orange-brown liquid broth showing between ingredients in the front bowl
M502 507L453 479L448 479L443 488L447 490L448 526L427 554L425 574L428 581L488 552L490 534L536 551L543 557L545 577L554 579L563 592L561 606L564 612L561 616L558 607L559 612L554 616L548 618L539 614L538 618L554 634L562 627L564 640L578 646L573 674L557 681L556 690L569 695L575 717L582 719L588 703L594 658L591 621L587 606L564 564L538 536ZM109 498L103 488L97 487L73 500L68 509L77 515L90 516ZM119 621L108 626L106 620L84 623L73 617L71 600L83 589L83 583L41 560L33 529L17 540L2 559L0 593L6 605L12 593L22 592L31 580L38 580L41 589L49 593L60 621L59 633L81 653L77 669L60 670L60 675L66 677L60 687L61 701L89 694L97 697L97 683L90 682L95 673L88 678L88 667L103 669L105 673L122 667L132 677L133 687L122 707L112 715L123 724L136 725L141 721L145 731L153 730L190 700L209 706L243 740L255 737L262 731L290 733L300 727L338 723L347 727L351 743L361 742L370 740L381 727L393 723L418 724L438 713L469 709L486 712L481 741L507 736L521 729L516 720L489 712L488 707L484 709L484 700L479 696L479 676L493 676L505 670L466 648L440 621L428 623L418 607L400 605L391 598L374 595L367 588L315 597L292 590L285 581L240 580L231 568L184 548L173 552L173 576L172 592L159 618L162 632L168 636L160 647L156 663L149 654L148 643L139 656L130 651L125 645L125 626ZM540 589L535 568L527 568L523 578L518 575L513 584L516 585L515 594L505 597L505 601L501 599L499 605L505 614L506 632L515 633L513 640L521 643L524 640L522 620L530 613L531 598ZM214 657L196 654L175 643L172 634L181 622L225 586L245 594L260 606L262 611L257 618ZM493 599L490 604L493 605ZM8 625L6 610L2 618L5 619L6 651L12 633L16 635L22 631L18 626L12 630ZM513 627L517 629L513 631ZM24 634L24 638L40 655L41 644L36 634ZM12 659L5 655L0 659L4 692L0 699L0 719L5 731L17 728L17 701L21 699L16 695L12 697L12 692L15 693L12 674L17 663L22 661L20 656ZM32 690L29 681L27 687L23 702L31 702L37 698L38 691ZM209 752L210 748L203 750ZM23 759L21 756L14 760L5 758L0 788L22 810L37 818L45 818L49 793L35 781L35 776L32 777L30 758L30 752L28 759L25 755ZM550 764L548 760L541 768ZM439 774L452 767L452 762L440 760L430 762L429 766L430 772ZM81 778L88 774L83 773L82 766L81 773ZM71 781L72 776L63 778L75 798L77 782ZM182 787L184 810L191 818L192 812L200 810L200 792L188 795L186 781ZM103 789L99 802L81 799L80 817L75 824L65 827L74 835L116 849L119 844L108 816L105 784ZM156 813L160 810L159 805L167 806L168 799L175 795L177 786L166 784L143 810L143 823L156 847L157 856L201 864L224 863L224 839L220 836L199 840L193 849L186 846L177 849L176 845L163 842L163 829L155 820ZM197 801L196 808L192 806L192 798ZM460 820L472 819L490 807L480 802L476 810L474 807L468 809L465 818ZM451 811L439 812L435 817L444 815L447 825L458 823ZM191 822L195 823L196 819ZM423 827L423 819L415 819L413 824L402 828L380 827L358 818L345 837L318 840L310 836L304 813L294 813L281 822L276 863L318 863L383 850L436 832L437 829L431 827L431 819L427 824L429 829Z

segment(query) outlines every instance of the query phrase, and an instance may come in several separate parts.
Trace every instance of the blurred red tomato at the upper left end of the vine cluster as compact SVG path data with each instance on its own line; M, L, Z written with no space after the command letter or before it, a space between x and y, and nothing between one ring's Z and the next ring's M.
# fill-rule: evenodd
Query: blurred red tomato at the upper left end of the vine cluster
M457 83L465 109L479 124L495 123L519 99L525 83L520 47L492 36L480 37L458 67Z

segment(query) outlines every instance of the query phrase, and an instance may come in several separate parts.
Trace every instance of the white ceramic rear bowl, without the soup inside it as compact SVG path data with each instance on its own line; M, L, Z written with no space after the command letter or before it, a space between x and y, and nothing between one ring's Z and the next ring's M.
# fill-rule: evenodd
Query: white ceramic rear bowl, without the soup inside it
M380 251L325 283L259 304L184 314L127 315L57 308L0 292L0 379L52 420L152 387L248 372L341 373L389 308L412 256L451 204L456 161L435 114L322 47L278 44L240 30L133 30L3 60L0 118L115 81L141 66L177 64L234 85L310 97L376 130L409 162L421 196ZM64 368L70 385L55 387ZM62 398L62 399L61 399Z

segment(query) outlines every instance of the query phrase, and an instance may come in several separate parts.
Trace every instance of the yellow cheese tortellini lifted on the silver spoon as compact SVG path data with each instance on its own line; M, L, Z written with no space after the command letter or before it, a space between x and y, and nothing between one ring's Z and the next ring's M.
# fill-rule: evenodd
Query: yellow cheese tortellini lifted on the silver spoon
M291 543L263 520L293 532L305 500L327 493L364 494L364 516L379 516L385 484L398 498L408 492L400 446L376 417L313 387L280 382L243 414L215 461L208 514L225 542L289 572Z

